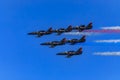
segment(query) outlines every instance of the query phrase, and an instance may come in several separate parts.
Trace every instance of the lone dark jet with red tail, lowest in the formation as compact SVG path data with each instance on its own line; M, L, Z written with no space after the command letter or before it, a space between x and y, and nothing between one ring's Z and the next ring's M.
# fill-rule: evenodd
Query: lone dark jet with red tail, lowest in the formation
M82 48L79 48L77 51L65 51L57 53L56 55L66 55L66 58L70 58L74 55L81 55L82 54Z

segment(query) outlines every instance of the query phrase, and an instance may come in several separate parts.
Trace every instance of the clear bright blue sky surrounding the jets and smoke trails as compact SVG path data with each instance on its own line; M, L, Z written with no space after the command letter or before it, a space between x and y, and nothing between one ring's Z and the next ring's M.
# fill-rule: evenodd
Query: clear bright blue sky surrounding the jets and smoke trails
M120 43L94 40L120 39L119 34L91 35L86 42L55 48L40 43L81 38L80 35L36 38L28 32L67 28L93 22L93 29L120 25L119 0L1 0L0 80L120 80L119 56L94 52L120 51ZM56 53L83 48L83 54L65 58Z

